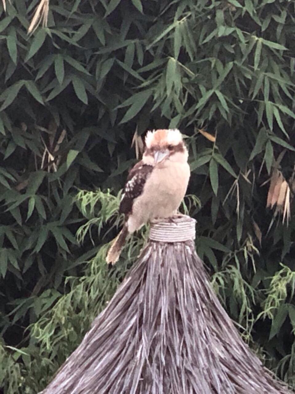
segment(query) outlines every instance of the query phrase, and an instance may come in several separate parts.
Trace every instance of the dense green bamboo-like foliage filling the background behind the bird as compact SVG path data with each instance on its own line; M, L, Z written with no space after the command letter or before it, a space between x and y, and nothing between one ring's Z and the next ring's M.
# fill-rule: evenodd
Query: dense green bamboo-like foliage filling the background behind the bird
M168 127L212 285L295 387L293 2L51 0L28 35L36 4L0 4L0 388L41 390L112 296L146 237L105 265L131 140Z

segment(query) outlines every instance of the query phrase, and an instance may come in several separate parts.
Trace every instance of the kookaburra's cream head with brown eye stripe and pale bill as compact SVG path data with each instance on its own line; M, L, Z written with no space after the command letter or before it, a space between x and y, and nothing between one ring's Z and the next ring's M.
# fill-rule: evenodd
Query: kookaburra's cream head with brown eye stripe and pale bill
M188 152L181 132L177 129L148 131L143 159L153 165L168 159L175 162L186 162Z

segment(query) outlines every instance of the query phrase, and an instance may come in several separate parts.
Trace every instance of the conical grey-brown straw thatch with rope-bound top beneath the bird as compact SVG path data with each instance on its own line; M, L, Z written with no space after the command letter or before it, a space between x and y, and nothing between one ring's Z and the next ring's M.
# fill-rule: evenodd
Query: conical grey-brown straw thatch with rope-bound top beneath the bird
M158 223L154 239L167 240L169 226L182 236L185 222ZM149 240L43 394L289 392L243 343L190 238Z

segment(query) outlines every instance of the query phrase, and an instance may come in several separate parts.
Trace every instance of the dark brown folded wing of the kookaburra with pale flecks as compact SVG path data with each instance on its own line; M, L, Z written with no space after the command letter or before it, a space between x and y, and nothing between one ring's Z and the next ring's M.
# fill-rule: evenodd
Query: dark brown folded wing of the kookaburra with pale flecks
M153 166L144 164L142 161L130 170L120 203L120 214L129 215L132 212L133 201L142 194L146 180L152 171Z

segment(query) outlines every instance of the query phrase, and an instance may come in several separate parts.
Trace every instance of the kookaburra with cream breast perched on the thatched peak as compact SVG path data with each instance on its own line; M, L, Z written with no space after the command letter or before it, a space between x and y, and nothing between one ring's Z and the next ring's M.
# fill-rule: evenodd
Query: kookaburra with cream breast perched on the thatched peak
M130 170L119 212L125 223L107 263L118 261L126 237L155 218L171 217L179 208L190 178L188 151L179 130L147 132L142 160Z

